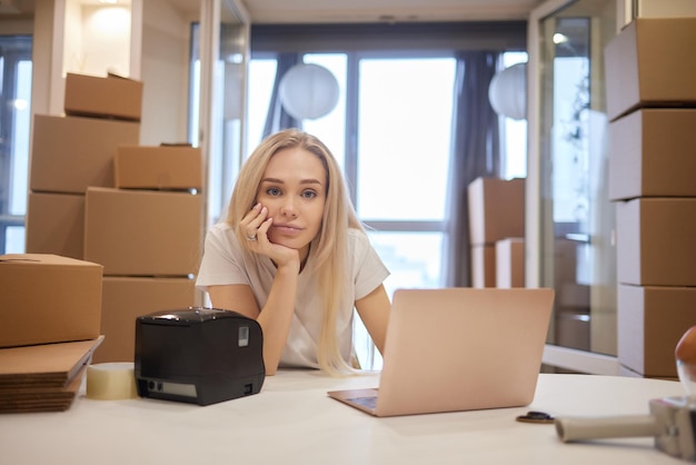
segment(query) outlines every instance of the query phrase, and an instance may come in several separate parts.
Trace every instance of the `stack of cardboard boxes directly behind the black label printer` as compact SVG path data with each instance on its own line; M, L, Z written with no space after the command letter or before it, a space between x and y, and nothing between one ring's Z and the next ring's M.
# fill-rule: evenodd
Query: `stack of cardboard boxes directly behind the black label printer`
M196 305L203 234L199 149L119 146L115 167L115 188L87 190L84 257L105 267L95 362L133 360L138 316Z

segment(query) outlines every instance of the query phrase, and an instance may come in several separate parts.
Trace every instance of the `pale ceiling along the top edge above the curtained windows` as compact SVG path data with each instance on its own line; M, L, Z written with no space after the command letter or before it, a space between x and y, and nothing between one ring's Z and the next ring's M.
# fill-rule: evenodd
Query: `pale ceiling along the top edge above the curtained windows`
M0 0L0 16L31 14L36 0ZM81 0L96 3L97 0ZM128 1L130 0L121 0ZM142 0L147 1L147 0ZM198 14L202 0L165 0ZM221 0L252 23L432 22L526 19L543 0Z

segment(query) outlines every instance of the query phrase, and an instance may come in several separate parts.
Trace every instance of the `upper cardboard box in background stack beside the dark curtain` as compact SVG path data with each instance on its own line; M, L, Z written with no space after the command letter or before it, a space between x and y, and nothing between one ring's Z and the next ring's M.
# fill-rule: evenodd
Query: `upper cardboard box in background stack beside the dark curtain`
M470 245L525 236L525 179L477 178L467 192Z

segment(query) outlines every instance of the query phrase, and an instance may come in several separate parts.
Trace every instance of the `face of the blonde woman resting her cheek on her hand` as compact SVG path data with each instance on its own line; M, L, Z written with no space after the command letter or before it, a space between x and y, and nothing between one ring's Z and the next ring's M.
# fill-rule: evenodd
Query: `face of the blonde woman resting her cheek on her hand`
M326 204L327 175L321 160L301 148L282 149L266 167L257 200L268 208L274 222L268 238L300 250L305 259L309 243L319 233Z

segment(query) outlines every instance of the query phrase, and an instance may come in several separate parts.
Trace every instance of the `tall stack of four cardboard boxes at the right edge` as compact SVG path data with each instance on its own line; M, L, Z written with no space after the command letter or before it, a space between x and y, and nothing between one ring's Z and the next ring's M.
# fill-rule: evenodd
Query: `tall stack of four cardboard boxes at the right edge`
M616 205L618 359L676 377L696 324L696 19L636 19L607 46L609 197Z

